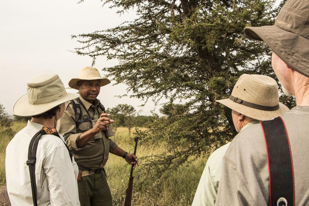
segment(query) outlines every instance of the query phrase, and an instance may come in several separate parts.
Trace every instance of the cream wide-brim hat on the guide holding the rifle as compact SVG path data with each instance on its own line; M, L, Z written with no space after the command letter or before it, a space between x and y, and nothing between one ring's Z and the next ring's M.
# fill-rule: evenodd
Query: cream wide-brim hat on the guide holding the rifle
M80 80L100 80L100 87L103 87L106 84L111 83L111 81L107 78L101 77L99 71L93 67L84 67L79 75L78 78L73 78L69 82L69 86L74 89L77 88L77 82Z

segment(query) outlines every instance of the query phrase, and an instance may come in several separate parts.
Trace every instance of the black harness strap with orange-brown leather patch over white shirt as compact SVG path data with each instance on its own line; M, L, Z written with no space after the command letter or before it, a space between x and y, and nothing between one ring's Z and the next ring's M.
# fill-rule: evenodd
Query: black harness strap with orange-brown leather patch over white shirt
M29 166L29 173L30 173L30 182L31 182L31 190L32 190L32 200L33 205L37 206L37 191L36 191L36 150L39 144L39 140L41 139L42 135L55 135L60 138L57 130L55 128L50 127L43 127L40 131L38 131L31 139L28 149L28 160L26 164ZM61 139L61 138L60 138ZM62 140L62 139L61 139ZM63 142L65 145L66 143ZM66 148L68 149L71 162L72 160L72 153L70 152L69 147L66 145Z

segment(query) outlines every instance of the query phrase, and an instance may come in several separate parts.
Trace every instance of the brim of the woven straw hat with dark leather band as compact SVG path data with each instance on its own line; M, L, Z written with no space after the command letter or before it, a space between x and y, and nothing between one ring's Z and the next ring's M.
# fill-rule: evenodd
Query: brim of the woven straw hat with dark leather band
M239 112L240 114L245 115L246 117L250 117L252 119L256 119L260 121L276 118L280 116L281 114L290 110L286 105L282 104L281 102L279 102L279 109L275 111L265 111L265 110L260 110L260 109L254 109L254 108L251 108L245 105L241 105L228 98L222 99L222 100L216 100L216 102L219 102L227 106L228 108L233 109L236 112Z

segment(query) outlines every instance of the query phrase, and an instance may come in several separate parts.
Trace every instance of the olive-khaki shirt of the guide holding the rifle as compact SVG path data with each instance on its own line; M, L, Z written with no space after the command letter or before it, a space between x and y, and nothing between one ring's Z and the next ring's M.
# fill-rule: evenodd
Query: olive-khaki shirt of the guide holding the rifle
M85 108L87 109L91 118L94 115L97 115L98 117L100 116L102 110L99 108L98 100L95 100L94 105L92 105L91 103L84 100L81 96L79 96L79 98L85 105ZM83 106L79 105L79 108L82 119L87 118L88 115ZM99 110L99 114L97 110ZM93 123L95 124L95 122ZM92 138L85 146L78 148L76 143L80 135L91 128L91 122L81 122L76 128L75 111L73 105L71 101L66 102L66 110L63 116L57 122L57 131L63 135L78 165L95 170L104 167L108 160L109 152L116 148L117 144L108 138L114 135L112 132L112 127L109 127L106 132L102 130L101 138Z

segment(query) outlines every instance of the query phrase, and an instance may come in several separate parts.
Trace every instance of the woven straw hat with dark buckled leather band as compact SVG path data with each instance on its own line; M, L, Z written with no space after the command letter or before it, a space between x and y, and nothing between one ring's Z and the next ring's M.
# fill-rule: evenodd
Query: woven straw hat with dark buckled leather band
M277 82L265 75L241 75L231 96L217 102L260 121L276 118L289 111L286 105L279 102Z

